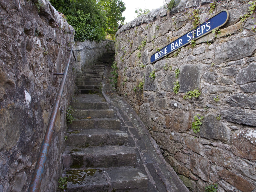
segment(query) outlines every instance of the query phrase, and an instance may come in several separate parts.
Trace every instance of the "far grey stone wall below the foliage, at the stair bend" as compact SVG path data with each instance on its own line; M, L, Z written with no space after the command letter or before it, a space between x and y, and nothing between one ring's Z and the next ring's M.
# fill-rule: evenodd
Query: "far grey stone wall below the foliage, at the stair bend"
M83 70L84 66L94 65L95 61L103 56L103 54L111 54L115 52L115 42L104 40L100 42L86 40L84 42L76 42L75 50L77 51L76 69Z

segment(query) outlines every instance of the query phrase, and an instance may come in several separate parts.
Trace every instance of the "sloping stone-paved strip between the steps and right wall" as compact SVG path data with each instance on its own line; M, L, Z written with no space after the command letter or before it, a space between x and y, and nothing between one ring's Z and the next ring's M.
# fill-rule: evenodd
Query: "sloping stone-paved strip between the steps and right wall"
M109 84L111 68L105 67L102 94L114 110L114 117L120 119L120 130L130 134L129 144L136 152L136 168L145 170L148 177L148 191L186 192L189 191L173 168L165 161L159 146L151 137L140 117L131 105Z

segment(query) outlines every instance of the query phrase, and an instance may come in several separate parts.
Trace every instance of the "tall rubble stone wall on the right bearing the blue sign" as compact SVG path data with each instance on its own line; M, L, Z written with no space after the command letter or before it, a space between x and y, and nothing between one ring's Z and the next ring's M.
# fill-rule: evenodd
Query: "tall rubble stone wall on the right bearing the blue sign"
M172 11L158 8L120 28L117 91L141 116L191 191L204 191L212 183L221 192L256 191L255 21L251 16L241 23L248 1L216 3L214 14L222 9L230 14L220 34L210 33L197 39L195 47L189 44L153 64L150 57L158 48L192 29L186 13L200 8L200 23L210 17L210 1L181 0ZM150 77L153 70L155 79ZM183 99L197 88L199 97ZM194 133L197 114L204 119Z

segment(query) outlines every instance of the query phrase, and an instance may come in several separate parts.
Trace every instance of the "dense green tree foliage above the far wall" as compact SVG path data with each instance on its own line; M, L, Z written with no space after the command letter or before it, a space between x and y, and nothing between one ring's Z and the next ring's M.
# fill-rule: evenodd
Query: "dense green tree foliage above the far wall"
M125 10L121 0L50 0L51 4L66 15L67 22L76 31L75 40L105 39L106 33L115 34L118 22L123 22Z

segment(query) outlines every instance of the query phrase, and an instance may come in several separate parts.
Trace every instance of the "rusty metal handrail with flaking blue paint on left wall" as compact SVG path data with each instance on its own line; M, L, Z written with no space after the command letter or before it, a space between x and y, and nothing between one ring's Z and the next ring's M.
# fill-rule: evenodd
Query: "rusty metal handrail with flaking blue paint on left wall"
M60 83L60 87L59 87L59 91L51 112L51 117L45 132L45 137L44 140L42 142L41 145L41 149L40 149L40 153L36 162L36 167L34 169L34 173L29 185L29 189L28 192L38 192L41 186L41 181L42 181L42 177L43 177L43 173L44 173L44 168L45 168L45 163L46 163L46 159L48 156L48 152L49 152L49 148L50 148L50 144L51 144L51 139L52 139L52 134L54 131L54 126L55 126L55 121L57 119L57 113L58 113L58 109L60 106L60 99L62 96L62 92L63 92L63 88L65 85L65 81L67 78L67 73L68 73L68 67L69 67L69 63L70 63L70 59L71 59L71 55L73 53L73 56L75 58L75 60L77 60L77 58L74 55L74 50L73 47L70 50L69 53L69 57L68 57L68 61L66 64L66 68L65 68L65 72L63 73L63 77Z

